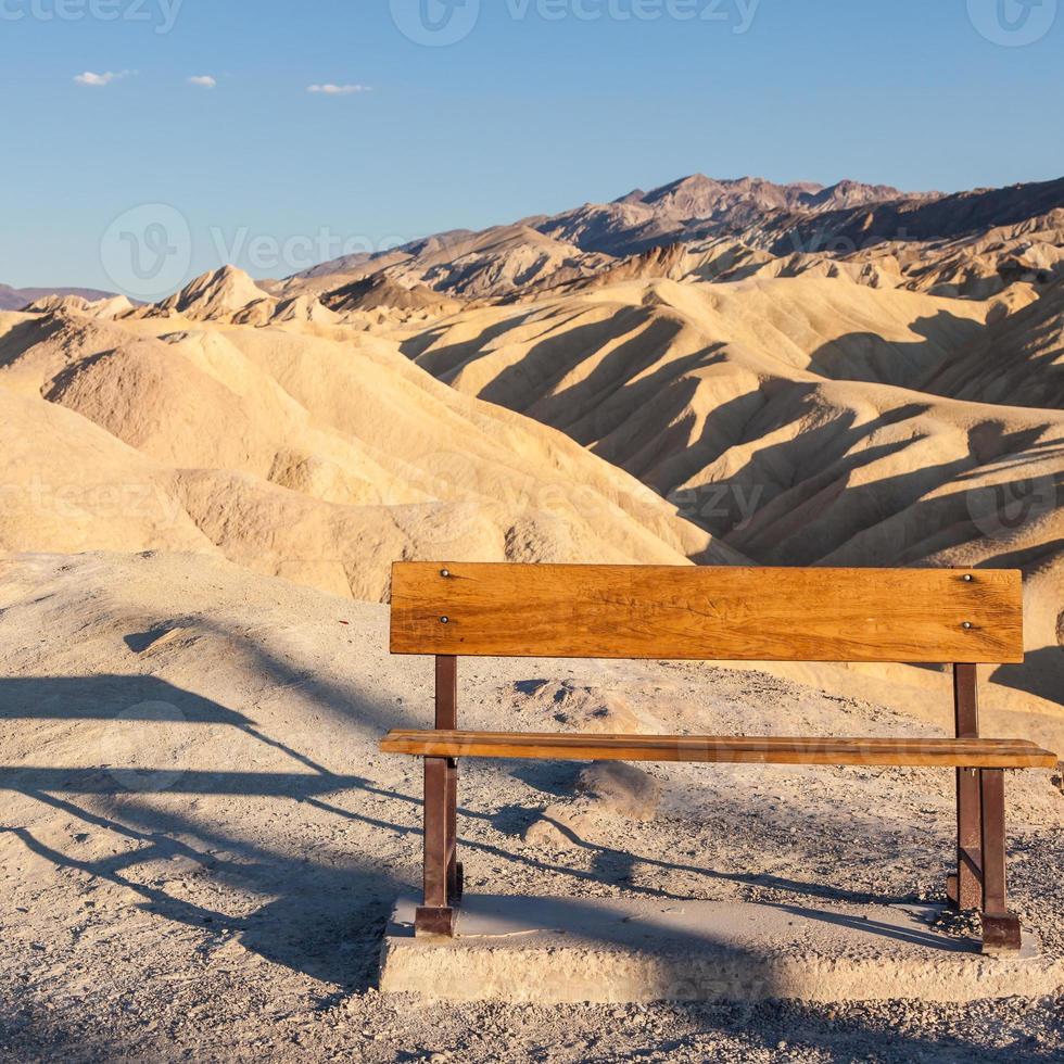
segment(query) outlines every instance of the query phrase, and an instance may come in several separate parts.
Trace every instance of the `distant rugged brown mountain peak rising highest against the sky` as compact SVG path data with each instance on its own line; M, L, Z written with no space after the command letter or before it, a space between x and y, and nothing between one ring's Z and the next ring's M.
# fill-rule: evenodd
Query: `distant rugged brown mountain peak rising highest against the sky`
M405 304L418 286L461 299L514 297L582 284L605 274L662 270L666 258L654 255L619 267L633 256L675 244L689 248L725 239L746 249L744 254L802 252L823 259L825 254L837 256L878 243L953 239L997 225L1024 224L1059 207L1064 207L1064 182L943 195L904 192L853 177L824 186L693 173L649 190L635 188L606 203L584 203L479 232L438 233L388 253L324 263L290 278L282 288L292 294L300 279L307 278L314 280L314 291L325 295L380 275L403 290L357 290L345 299L362 301L371 291L371 300L383 295ZM668 267L680 268L675 263ZM333 275L330 290L327 279ZM420 295L423 301L425 293Z

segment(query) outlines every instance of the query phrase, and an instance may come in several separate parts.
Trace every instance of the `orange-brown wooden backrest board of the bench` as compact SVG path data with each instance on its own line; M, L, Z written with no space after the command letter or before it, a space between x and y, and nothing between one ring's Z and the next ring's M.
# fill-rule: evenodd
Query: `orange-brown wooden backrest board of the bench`
M393 654L1023 661L1018 570L396 562Z

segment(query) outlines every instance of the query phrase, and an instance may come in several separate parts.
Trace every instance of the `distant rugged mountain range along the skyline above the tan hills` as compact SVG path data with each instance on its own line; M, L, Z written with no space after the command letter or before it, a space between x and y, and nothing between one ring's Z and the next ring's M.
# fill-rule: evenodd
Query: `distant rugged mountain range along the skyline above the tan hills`
M1062 228L1064 179L945 194L696 174L611 203L333 259L267 287L324 292L340 279L388 277L455 297L495 297L585 280L675 244L691 273L705 271L723 244L747 267L783 258L805 269L828 258L869 268L870 276L896 273L892 283L925 289L971 274L985 294L996 277L1052 268L1059 258L1049 249L1059 246ZM912 252L930 243L940 250L928 268Z

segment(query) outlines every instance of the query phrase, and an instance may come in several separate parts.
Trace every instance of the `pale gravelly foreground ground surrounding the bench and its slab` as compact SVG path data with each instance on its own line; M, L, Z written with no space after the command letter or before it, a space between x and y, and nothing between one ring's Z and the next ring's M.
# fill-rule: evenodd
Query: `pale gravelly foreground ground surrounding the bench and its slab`
M1064 1050L1053 1001L382 1000L373 966L388 908L418 879L421 789L413 759L376 744L427 722L431 704L431 662L390 657L384 621L382 607L202 556L0 561L0 1059L1003 1062ZM605 719L834 735L940 734L949 718L946 699L929 724L710 666L535 660L463 662L460 712L472 727ZM635 821L574 799L577 767L470 762L469 889L673 904L941 897L947 772L647 771L660 803ZM1051 775L1010 782L1010 872L1016 908L1057 953L1064 799ZM539 828L524 840L544 809L577 840Z

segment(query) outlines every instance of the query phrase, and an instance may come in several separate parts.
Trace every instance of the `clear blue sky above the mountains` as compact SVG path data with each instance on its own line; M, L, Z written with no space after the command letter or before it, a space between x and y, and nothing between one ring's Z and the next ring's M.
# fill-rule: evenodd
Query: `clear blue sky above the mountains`
M117 287L101 240L149 203L188 275L281 276L698 170L1064 175L1057 0L421 2L0 0L0 281Z

